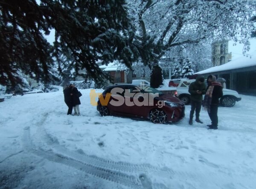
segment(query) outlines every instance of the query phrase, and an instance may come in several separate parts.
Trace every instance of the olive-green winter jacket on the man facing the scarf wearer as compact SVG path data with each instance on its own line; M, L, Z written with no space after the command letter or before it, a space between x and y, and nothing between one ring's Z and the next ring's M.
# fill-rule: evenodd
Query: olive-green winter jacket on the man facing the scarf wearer
M203 95L206 93L206 85L205 83L199 84L198 81L200 78L204 78L204 76L197 76L195 82L192 82L189 85L189 93L192 101L201 102L203 100ZM199 90L202 94L198 94L196 91Z

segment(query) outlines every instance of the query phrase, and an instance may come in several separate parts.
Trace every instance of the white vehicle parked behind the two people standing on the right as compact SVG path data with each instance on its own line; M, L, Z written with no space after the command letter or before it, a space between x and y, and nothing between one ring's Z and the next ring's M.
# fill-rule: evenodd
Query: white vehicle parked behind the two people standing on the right
M184 102L185 105L190 103L189 85L194 81L195 79L180 80L179 85L176 87L176 97L178 97L182 102ZM222 85L226 86L225 84ZM220 104L224 107L233 107L236 104L236 102L239 102L241 100L241 96L235 90L223 88L222 91L223 96L220 99Z

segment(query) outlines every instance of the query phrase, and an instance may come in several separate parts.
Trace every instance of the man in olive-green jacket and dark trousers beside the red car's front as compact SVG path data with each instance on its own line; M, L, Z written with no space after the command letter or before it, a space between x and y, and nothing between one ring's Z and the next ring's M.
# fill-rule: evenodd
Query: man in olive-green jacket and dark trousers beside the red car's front
M189 93L191 99L191 110L189 115L189 124L193 124L193 116L195 113L195 121L203 123L199 119L203 95L206 93L206 85L204 83L204 76L197 76L195 82L189 85Z

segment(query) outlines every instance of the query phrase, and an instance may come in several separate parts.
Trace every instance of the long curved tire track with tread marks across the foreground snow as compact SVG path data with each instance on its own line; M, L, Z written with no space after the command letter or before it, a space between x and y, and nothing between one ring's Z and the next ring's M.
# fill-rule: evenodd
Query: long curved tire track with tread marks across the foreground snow
M197 174L195 172L181 172L181 171L169 169L167 167L158 168L158 167L154 167L150 164L130 164L130 163L122 162L122 161L116 162L116 161L106 160L104 158L99 158L94 155L87 155L87 154L81 154L79 152L70 151L67 148L61 146L58 142L58 139L55 136L52 136L46 132L43 125L44 125L44 122L47 120L47 116L48 116L48 113L45 113L43 115L41 121L38 121L38 123L37 123L38 127L37 127L37 131L35 133L35 136L37 137L36 141L40 141L38 143L41 143L41 147L40 147L41 150L42 150L42 148L45 148L45 149L51 148L51 154L55 154L60 157L64 157L66 159L72 159L73 161L80 162L81 164L90 165L92 167L96 167L96 168L99 168L102 170L107 169L108 171L112 170L113 172L128 172L130 174L135 172L135 173L137 173L137 175L139 174L139 176L136 177L138 179L136 179L134 176L133 177L136 181L140 180L139 182L142 184L143 188L147 188L147 189L151 189L151 188L152 189L167 189L168 188L162 183L151 183L149 178L147 178L146 176L142 176L142 175L145 175L144 172L151 173L154 176L157 175L160 177L165 177L168 179L171 178L171 179L175 179L175 180L177 180L177 179L180 180L180 178L193 178L193 180L195 179L195 180L197 180L197 182L200 182L200 183L207 182L207 183L212 183L213 185L216 184L213 182L213 180L215 180L215 181L225 180L225 178L218 176L218 175L216 176L214 174L211 174L210 172L209 172L209 174L213 175L213 176L209 179L209 177L207 177L207 175L205 175L205 174ZM48 150L43 150L43 151L49 152ZM158 174L156 174L156 173L158 173ZM101 178L101 177L99 177L99 178ZM106 177L104 177L103 179L105 179L105 178ZM143 179L141 179L141 178L143 178ZM114 180L113 182L118 183L119 181L117 182L116 180ZM149 184L149 183L151 183L151 184ZM123 185L125 185L125 184L123 184ZM125 186L128 186L128 185L125 185ZM132 186L132 188L134 188L134 186Z

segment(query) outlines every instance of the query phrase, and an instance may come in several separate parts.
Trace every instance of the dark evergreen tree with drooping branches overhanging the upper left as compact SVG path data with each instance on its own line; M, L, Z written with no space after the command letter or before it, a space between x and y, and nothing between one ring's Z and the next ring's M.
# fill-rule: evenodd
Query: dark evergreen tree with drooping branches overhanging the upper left
M146 57L125 0L1 0L0 8L0 84L20 83L18 70L49 82L54 57L61 73L74 70L77 76L86 69L96 82L111 79L96 62L117 59L131 68L140 55ZM43 35L49 29L55 30L53 48Z

